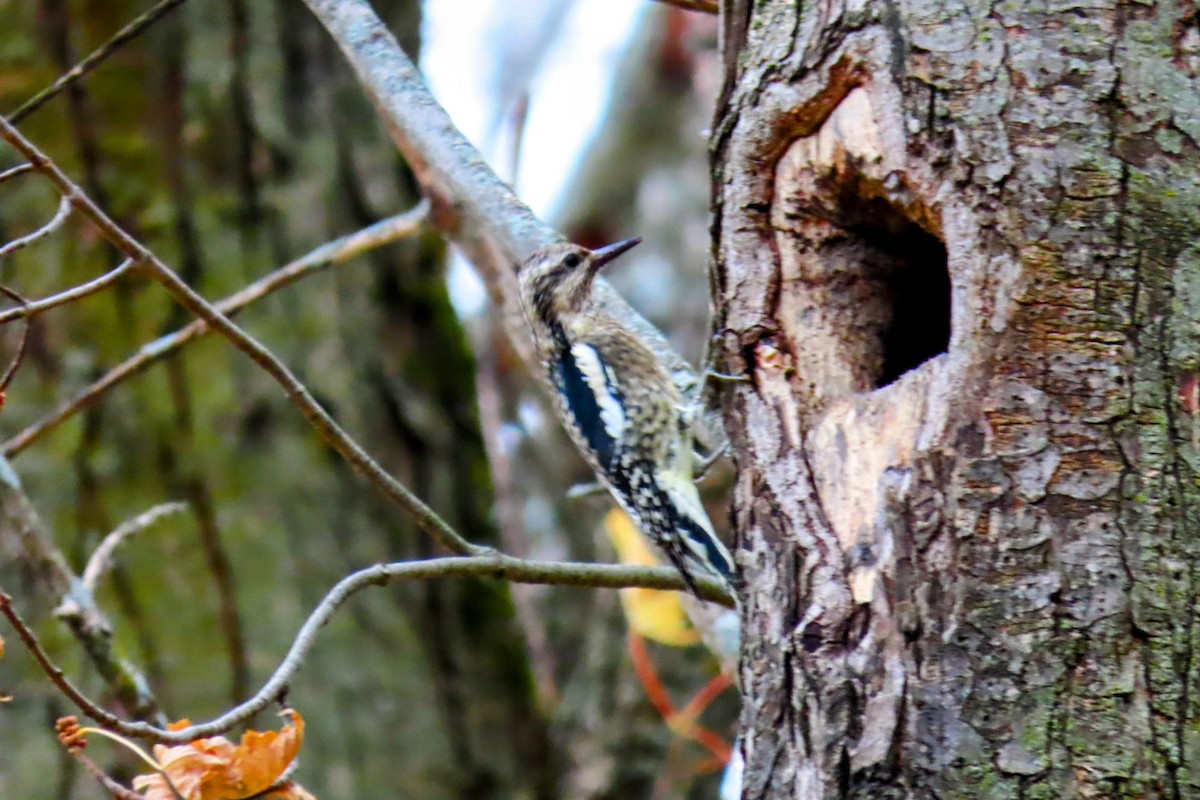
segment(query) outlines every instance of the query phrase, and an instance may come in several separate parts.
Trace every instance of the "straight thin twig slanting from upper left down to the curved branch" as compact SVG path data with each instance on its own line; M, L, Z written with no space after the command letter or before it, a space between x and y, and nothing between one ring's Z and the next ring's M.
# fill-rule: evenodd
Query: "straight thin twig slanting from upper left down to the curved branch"
M214 330L224 336L230 344L245 353L266 374L283 389L293 405L300 409L308 423L347 461L360 475L379 489L384 497L408 511L425 533L433 536L443 547L462 555L485 555L491 548L472 545L458 531L439 517L430 506L409 491L407 486L392 477L372 458L362 446L354 440L329 413L313 398L308 389L290 369L264 347L258 339L239 327L233 320L221 313L212 303L197 294L187 283L167 266L150 248L131 236L124 228L96 205L62 169L43 154L20 131L0 116L0 138L11 144L22 156L29 160L53 182L65 198L68 198L79 211L86 216L127 257L145 265L146 272L162 284L175 301L190 312L205 320Z

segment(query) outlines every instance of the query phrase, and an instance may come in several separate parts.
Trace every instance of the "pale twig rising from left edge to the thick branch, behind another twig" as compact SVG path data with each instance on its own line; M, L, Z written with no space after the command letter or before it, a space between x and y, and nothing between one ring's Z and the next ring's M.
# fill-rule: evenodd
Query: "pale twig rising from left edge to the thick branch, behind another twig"
M318 272L330 265L341 264L360 253L389 245L409 236L425 223L428 217L430 204L427 200L414 206L404 213L382 219L367 228L362 228L353 234L348 234L331 242L322 245L290 264L275 270L270 275L251 283L244 289L229 295L216 303L217 311L233 315L250 303L265 297L266 295L290 285L302 277ZM31 303L37 305L37 303ZM2 315L0 315L2 321ZM197 319L184 327L161 336L154 342L145 344L134 355L113 367L101 375L95 383L85 387L74 397L61 403L48 416L29 426L12 439L0 445L0 452L12 457L25 450L43 435L54 431L65 421L97 402L114 386L126 378L138 374L150 365L175 353L188 342L211 333L212 329L203 319Z

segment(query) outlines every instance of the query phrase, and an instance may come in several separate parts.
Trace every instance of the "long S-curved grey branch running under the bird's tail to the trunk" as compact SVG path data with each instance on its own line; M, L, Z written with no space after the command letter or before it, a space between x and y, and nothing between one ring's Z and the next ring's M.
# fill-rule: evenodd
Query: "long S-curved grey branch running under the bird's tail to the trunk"
M263 685L254 697L230 709L216 720L194 724L180 730L166 730L145 722L126 722L100 708L77 690L42 650L37 637L29 630L20 615L12 608L11 599L0 593L0 612L8 618L18 636L42 670L50 678L67 698L80 711L101 724L127 736L137 736L150 741L184 742L224 733L239 722L258 714L274 703L287 690L292 676L304 662L312 648L318 631L329 621L334 612L355 593L371 587L385 585L397 579L439 578L451 576L476 576L510 581L514 583L538 583L569 587L593 587L600 589L673 589L683 590L683 578L670 567L646 567L629 564L572 564L565 561L534 561L515 559L506 555L487 555L475 558L442 558L425 561L400 561L396 564L377 564L342 578L317 608L305 620L304 626L292 642L292 648L280 663L275 674ZM722 606L733 606L720 585L712 578L697 576L701 594Z

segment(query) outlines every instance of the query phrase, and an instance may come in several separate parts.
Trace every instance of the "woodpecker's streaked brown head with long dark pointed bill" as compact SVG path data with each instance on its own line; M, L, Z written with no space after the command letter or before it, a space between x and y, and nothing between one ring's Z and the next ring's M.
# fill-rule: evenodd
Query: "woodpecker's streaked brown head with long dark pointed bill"
M600 267L640 241L626 239L600 249L570 243L542 247L517 272L526 313L550 325L564 315L587 311L592 281Z

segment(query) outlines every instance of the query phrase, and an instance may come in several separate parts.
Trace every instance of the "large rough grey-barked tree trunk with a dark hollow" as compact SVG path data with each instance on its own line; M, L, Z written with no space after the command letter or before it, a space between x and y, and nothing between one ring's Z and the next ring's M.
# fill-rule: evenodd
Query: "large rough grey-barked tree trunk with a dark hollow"
M743 796L1200 798L1195 2L722 25Z

